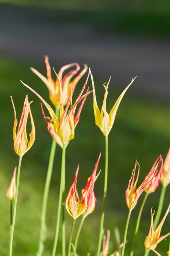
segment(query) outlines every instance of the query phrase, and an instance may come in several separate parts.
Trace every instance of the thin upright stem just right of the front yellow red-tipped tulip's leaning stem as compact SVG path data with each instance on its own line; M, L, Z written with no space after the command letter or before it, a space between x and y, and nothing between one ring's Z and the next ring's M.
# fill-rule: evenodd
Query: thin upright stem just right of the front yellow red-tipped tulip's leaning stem
M66 187L66 168L63 166L63 190L62 190L62 256L66 256L66 222L65 222L65 187Z

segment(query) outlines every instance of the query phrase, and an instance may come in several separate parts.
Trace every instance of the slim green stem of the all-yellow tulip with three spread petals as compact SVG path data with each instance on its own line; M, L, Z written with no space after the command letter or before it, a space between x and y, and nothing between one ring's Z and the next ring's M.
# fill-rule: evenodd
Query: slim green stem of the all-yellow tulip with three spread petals
M105 204L106 204L107 183L108 183L108 136L105 136L104 195L103 195L102 215L101 215L101 220L100 220L100 229L99 229L99 241L98 241L98 247L97 247L97 256L99 256L99 254L100 254L100 249L101 249L101 245L102 245L102 238L103 238L104 211L105 211Z

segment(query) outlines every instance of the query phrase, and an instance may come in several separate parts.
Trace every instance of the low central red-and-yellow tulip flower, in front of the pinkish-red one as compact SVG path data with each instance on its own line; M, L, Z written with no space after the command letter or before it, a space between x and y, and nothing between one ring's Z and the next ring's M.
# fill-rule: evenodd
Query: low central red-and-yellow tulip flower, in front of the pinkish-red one
M97 160L97 162L99 159ZM96 164L97 165L97 164ZM88 182L88 186L86 186L86 189L82 190L82 199L79 200L79 195L77 192L77 175L79 171L79 165L77 167L77 170L74 175L73 184L71 185L71 188L68 191L67 197L66 197L66 210L68 214L73 217L73 219L78 218L80 215L82 215L85 211L88 209L88 198L91 191L91 188L93 188L93 184L97 180L97 177L99 176L99 173L97 176L95 176L94 180L92 182Z

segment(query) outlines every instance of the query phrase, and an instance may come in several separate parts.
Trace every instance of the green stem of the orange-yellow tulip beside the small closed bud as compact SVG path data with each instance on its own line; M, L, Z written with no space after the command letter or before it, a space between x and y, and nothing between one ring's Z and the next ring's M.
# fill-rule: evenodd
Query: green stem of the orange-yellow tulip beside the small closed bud
M19 164L18 164L17 184L16 184L16 193L15 193L14 209L13 209L13 221L12 221L12 228L11 228L11 234L10 234L9 256L12 256L13 233L14 233L16 210L17 210L17 199L18 199L18 188L19 188L19 182L20 182L21 162L22 162L22 157L19 158Z

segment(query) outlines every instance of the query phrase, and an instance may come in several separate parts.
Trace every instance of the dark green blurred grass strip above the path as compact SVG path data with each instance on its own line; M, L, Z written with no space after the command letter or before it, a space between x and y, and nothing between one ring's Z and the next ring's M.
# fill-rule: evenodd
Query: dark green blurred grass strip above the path
M85 24L106 32L170 37L169 0L0 0L0 3L24 6L31 11L40 8L38 16L43 15L55 25Z

